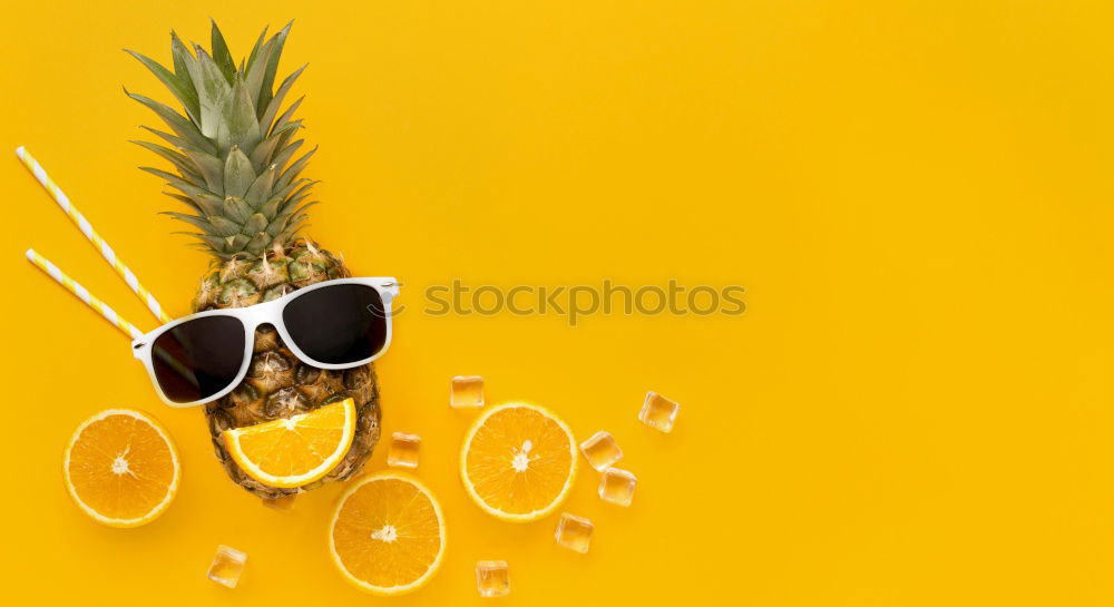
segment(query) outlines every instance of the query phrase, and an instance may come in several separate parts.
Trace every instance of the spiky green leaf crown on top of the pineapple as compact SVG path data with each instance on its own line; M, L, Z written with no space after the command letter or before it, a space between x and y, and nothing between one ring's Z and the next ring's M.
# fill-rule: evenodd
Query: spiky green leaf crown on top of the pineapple
M176 174L140 168L177 190L165 194L192 212L165 214L197 228L184 234L197 237L201 247L223 260L260 256L281 246L304 227L305 211L315 204L305 200L316 182L300 175L316 148L294 159L304 143L294 138L302 121L293 118L302 99L278 111L305 66L275 88L278 58L292 25L270 39L264 29L238 67L216 21L208 50L193 45L190 51L170 32L173 70L125 49L169 89L183 109L179 112L124 89L170 130L143 127L169 147L134 143L170 163Z

